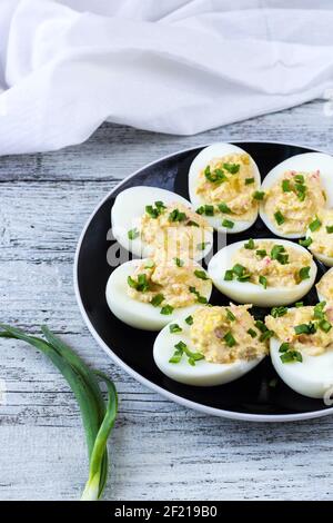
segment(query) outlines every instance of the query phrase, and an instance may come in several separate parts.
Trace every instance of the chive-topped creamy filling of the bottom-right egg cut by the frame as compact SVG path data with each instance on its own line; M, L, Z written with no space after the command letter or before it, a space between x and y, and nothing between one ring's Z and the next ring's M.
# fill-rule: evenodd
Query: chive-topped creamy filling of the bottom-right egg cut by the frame
M319 356L333 348L333 306L321 302L312 306L276 308L275 317L266 316L266 327L281 342L283 363L302 362L302 353Z

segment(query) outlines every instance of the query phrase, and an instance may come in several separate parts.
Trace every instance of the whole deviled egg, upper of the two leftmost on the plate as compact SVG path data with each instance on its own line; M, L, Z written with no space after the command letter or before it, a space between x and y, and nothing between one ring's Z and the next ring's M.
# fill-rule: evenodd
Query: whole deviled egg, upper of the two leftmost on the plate
M158 187L131 187L120 193L111 213L112 231L125 249L149 257L157 249L170 256L203 258L212 248L212 228L180 195Z

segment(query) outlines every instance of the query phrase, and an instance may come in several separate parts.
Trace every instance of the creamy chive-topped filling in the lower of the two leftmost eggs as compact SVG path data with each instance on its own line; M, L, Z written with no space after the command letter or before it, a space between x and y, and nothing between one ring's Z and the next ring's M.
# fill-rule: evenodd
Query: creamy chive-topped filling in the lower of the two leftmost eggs
M190 259L143 260L128 277L128 295L135 300L161 307L161 314L195 303L206 304L211 280L206 273Z

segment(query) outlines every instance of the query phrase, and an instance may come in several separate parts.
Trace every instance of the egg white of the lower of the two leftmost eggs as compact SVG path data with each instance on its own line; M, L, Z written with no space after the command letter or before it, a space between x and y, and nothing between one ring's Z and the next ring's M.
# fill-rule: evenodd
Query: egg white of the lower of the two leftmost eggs
M121 322L143 330L160 330L168 323L176 322L182 314L189 316L198 308L198 304L193 304L189 307L174 308L172 314L163 315L160 313L162 306L154 307L151 304L132 299L127 293L128 276L132 276L135 268L141 264L142 259L125 262L117 267L109 277L105 292L107 302L111 312ZM201 265L196 265L202 270ZM206 282L206 284L208 292L203 293L203 296L209 300L212 293L212 284L211 282Z

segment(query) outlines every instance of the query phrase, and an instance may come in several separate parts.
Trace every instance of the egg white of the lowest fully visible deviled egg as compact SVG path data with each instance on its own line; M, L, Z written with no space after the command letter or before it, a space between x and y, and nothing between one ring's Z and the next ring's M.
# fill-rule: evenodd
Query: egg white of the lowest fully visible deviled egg
M198 352L191 342L190 326L184 322L184 317L176 322L182 328L181 333L170 333L169 325L167 325L157 336L153 347L157 366L171 379L201 387L223 385L249 373L263 359L264 356L261 356L249 362L240 359L229 364L209 363L205 359L200 359L195 362L195 366L191 366L184 355L179 363L169 363L175 351L174 345L179 342L184 342L193 353Z

